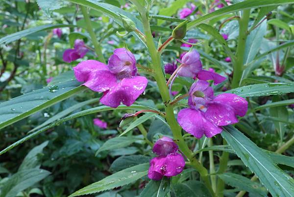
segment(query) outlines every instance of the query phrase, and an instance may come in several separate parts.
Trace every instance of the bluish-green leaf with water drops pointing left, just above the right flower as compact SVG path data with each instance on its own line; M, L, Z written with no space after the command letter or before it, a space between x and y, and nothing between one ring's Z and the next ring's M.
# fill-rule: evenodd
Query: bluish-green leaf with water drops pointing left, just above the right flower
M242 97L252 96L269 96L294 92L294 84L270 83L270 84L254 84L238 87L226 91L226 93L237 94Z

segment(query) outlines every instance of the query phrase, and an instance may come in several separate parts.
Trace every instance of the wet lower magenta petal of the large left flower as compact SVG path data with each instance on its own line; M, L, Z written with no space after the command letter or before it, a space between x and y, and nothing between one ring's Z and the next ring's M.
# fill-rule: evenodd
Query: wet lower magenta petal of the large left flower
M117 108L121 103L130 106L144 92L147 83L146 77L142 76L124 78L115 87L105 92L100 102L112 108Z

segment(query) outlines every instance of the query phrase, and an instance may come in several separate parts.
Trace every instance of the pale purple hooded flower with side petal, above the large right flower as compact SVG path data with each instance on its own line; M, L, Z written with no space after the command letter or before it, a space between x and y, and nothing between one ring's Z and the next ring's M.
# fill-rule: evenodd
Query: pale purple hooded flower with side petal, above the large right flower
M197 77L200 80L214 80L214 84L220 84L226 78L221 75L202 69L200 55L196 50L189 51L181 59L180 70L178 75L182 77Z

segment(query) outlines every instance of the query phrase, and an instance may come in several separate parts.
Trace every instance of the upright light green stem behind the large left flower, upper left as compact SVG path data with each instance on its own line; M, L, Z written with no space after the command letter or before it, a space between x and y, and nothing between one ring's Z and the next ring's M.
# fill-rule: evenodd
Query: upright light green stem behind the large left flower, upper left
M86 27L87 27L88 33L90 34L92 43L94 45L95 52L96 52L96 54L98 56L98 60L101 61L102 63L106 63L106 61L104 59L104 56L102 54L101 46L98 43L96 34L95 34L95 32L94 32L94 30L92 28L92 24L91 24L91 20L90 20L90 16L88 14L87 8L84 7L84 6L81 6L81 11L83 13L83 16L84 16L84 19L85 19L85 22L86 22Z

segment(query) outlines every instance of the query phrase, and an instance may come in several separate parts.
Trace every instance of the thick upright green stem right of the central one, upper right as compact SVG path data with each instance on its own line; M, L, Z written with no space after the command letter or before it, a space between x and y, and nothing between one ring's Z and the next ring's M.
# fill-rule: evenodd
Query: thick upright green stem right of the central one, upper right
M239 20L239 40L237 47L237 60L234 64L234 73L233 73L233 81L232 88L239 87L242 73L243 73L243 63L244 63L244 54L245 54L245 45L247 39L247 28L249 23L249 15L250 9L243 11L243 16Z

